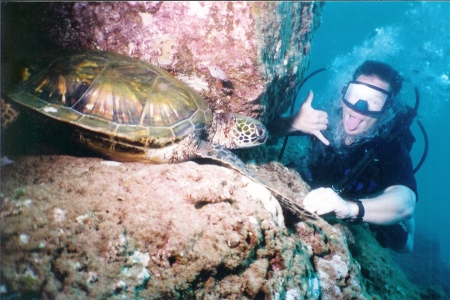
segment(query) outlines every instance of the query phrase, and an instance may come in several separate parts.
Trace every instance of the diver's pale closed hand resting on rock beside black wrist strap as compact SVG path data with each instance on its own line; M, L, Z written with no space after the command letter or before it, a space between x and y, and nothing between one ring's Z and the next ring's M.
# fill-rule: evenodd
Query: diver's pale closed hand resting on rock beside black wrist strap
M353 202L345 201L330 188L312 190L303 200L305 209L318 215L334 213L339 219L354 217L358 207Z

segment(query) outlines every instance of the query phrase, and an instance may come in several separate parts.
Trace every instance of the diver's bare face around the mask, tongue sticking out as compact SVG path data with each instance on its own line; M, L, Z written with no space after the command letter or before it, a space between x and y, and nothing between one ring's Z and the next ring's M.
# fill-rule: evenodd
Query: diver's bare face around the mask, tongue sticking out
M356 80L377 86L386 91L390 91L391 89L389 83L382 81L380 78L376 76L360 75ZM378 120L377 118L358 113L352 110L344 103L342 103L342 107L343 107L342 118L344 122L344 129L349 136L355 136L364 133L366 131L369 131L377 123Z

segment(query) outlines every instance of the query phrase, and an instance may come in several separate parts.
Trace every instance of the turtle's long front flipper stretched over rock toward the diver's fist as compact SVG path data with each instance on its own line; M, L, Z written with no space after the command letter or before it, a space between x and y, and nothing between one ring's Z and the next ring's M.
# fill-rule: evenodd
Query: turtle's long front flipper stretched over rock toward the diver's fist
M319 219L318 215L305 210L303 207L301 207L298 203L296 203L292 199L285 197L283 194L281 194L277 190L274 190L269 185L264 183L264 181L259 179L258 176L255 173L253 173L239 157L237 157L233 152L226 149L225 147L223 147L221 145L201 141L196 155L197 155L197 157L207 158L207 159L212 159L214 161L218 161L219 163L221 163L227 167L230 167L230 168L240 172L243 175L246 175L247 177L251 178L255 182L262 184L278 200L278 202L280 203L280 205L283 209L290 211L298 218L310 219L310 220Z

